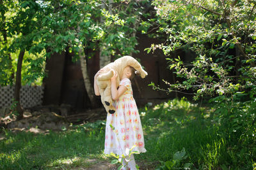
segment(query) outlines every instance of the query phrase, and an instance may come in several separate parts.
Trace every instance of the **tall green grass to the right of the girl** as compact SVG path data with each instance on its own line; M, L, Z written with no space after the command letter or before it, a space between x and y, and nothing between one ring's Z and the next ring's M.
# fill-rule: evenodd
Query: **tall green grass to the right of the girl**
M254 105L251 103L246 108L246 105L235 107L222 103L214 108L210 104L199 107L185 99L174 99L152 109L145 107L141 109L144 115L141 120L147 152L137 157L159 161L160 169L183 168L184 165L190 169L252 169L256 159L256 119L250 106ZM242 118L236 118L235 123L249 121L244 115L252 119L249 123L236 124L240 131L232 129L232 117L237 115ZM250 136L245 131L250 131ZM186 150L186 159L174 164L173 157L182 148Z

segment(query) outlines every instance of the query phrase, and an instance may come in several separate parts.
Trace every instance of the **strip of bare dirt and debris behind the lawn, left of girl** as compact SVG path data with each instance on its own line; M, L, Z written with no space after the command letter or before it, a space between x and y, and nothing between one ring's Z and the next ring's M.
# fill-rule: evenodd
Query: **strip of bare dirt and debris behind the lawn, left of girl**
M50 129L61 131L61 129L67 129L70 124L103 120L106 118L106 113L102 108L74 112L68 106L39 106L25 110L23 117L22 120L16 120L11 111L4 110L0 114L0 127L11 131L34 133L45 133Z

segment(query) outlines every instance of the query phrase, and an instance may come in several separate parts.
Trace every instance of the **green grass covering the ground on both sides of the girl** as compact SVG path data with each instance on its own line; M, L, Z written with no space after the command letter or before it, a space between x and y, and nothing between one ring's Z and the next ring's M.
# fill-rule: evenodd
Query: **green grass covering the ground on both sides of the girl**
M256 167L256 107L219 105L173 99L141 108L147 152L135 155L136 161L158 169ZM95 164L90 159L110 162L102 153L104 126L97 121L49 134L3 130L0 169L76 169Z

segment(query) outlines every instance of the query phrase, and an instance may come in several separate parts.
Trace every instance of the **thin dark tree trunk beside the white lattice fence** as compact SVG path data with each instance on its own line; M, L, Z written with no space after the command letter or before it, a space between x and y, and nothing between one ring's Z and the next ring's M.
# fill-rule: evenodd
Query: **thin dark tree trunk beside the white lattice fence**
M20 89L21 89L21 69L22 69L22 61L24 57L25 50L20 50L18 63L17 63L17 71L16 71L16 81L15 81L15 90L14 90L14 99L17 102L15 110L19 114L17 120L23 118L23 110L20 106Z

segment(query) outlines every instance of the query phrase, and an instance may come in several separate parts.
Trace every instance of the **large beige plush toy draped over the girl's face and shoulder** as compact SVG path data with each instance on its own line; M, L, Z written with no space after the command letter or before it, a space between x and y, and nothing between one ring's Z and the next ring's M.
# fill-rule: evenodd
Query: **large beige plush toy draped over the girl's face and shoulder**
M145 78L147 76L147 72L141 67L140 63L131 56L124 56L116 59L114 62L109 63L104 66L102 69L104 70L99 76L97 76L97 85L99 87L99 92L101 96L101 102L106 108L108 113L115 113L116 109L113 106L113 100L111 97L111 77L114 75L114 71L118 74L116 80L116 87L118 87L120 83L120 77L124 71L124 68L127 66L134 67L136 71L140 74L141 78Z

